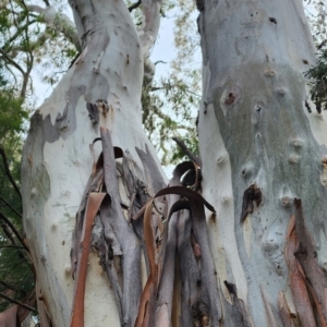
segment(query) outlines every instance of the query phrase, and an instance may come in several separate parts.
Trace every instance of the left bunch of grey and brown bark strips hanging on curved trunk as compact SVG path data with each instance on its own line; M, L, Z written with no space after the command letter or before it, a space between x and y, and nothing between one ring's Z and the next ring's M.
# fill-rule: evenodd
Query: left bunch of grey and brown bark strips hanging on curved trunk
M131 201L130 210L135 210L134 206L141 207L148 195L142 195L140 193L140 185L145 185L144 182L140 180L141 173L140 171L135 173L135 167L133 170L133 165L129 164L131 159L125 158L121 148L112 146L110 132L108 130L101 129L101 141L102 153L93 167L92 175L76 215L76 226L73 233L73 249L71 252L72 272L73 276L75 276L76 271L77 278L71 326L83 326L82 324L84 324L83 303L87 254L90 245L98 251L100 257L99 263L111 282L121 323L124 326L134 326L142 291L140 271L141 244L137 240L137 235L133 231L133 227L126 221L122 214L122 206L124 207L124 205L122 205L119 193L116 158L123 158L124 171L121 173L128 189L126 191L130 194L130 199L135 197L135 194L140 195L137 199ZM90 150L93 153L93 147ZM146 189L146 186L144 186L144 189ZM89 218L87 215L92 196L100 196L101 202L97 203L97 210L93 211ZM92 232L92 240L87 239L86 242L83 239L86 234L84 232L84 225L87 223L88 219L92 219L92 222L95 219L95 225ZM89 225L87 226L89 227ZM90 228L92 227L93 225L90 225ZM88 232L90 231L88 230ZM81 240L84 240L82 254L78 245ZM87 247L87 251L84 247ZM121 261L121 258L123 258L123 261ZM122 265L122 281L120 281L121 272L119 272L120 264L117 266L118 262L121 262L120 264Z

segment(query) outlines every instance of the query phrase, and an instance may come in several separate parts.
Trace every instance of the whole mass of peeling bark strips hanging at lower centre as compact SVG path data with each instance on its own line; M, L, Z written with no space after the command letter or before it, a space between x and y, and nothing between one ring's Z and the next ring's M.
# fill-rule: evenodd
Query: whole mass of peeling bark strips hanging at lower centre
M148 150L136 149L143 159L148 182L146 185L131 156L128 153L124 155L121 148L113 147L110 132L101 128L100 133L102 153L94 164L73 233L71 258L76 282L71 326L84 327L89 246L98 251L99 263L113 289L122 325L170 326L178 254L180 263L189 258L181 265L181 278L187 281L187 289L192 290L183 290L182 302L189 303L182 308L184 325L218 326L221 320L221 304L204 206L211 211L215 209L202 195L181 186L182 175L190 171L196 174L195 169L199 167L191 161L178 165L169 187L160 190L148 201L149 193L161 189L164 184L157 177L158 171L154 169L154 160ZM93 145L90 152L94 155ZM116 158L122 158L122 161L117 162ZM121 198L119 178L122 178L129 205L123 204ZM197 186L196 180L193 179L191 183L194 189ZM123 209L130 210L125 217ZM130 219L132 216L133 220ZM142 220L135 220L136 217L144 218L143 228L138 223ZM149 266L143 293L141 284L135 283L141 280L141 244L146 246Z

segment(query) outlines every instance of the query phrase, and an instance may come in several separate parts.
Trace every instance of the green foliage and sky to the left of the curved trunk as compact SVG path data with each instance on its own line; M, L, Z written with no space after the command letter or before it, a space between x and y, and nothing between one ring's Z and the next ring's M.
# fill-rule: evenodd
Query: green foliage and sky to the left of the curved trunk
M31 318L25 319L26 316L31 312L36 315L34 267L24 240L20 192L22 135L26 133L28 107L34 101L32 72L37 63L46 64L45 49L53 46L55 40L61 45L60 51L58 47L57 53L56 49L51 51L52 59L57 57L55 66L62 64L66 51L74 52L65 41L72 31L66 17L53 13L53 8L47 9L48 12L37 13L37 7L29 8L24 1L2 1L0 4L1 326L14 324L14 320L27 324Z

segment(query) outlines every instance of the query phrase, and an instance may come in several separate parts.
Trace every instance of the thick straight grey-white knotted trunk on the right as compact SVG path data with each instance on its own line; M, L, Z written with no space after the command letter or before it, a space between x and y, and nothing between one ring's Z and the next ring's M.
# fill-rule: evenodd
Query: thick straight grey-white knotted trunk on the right
M302 1L209 0L197 23L223 326L326 326L326 113L305 108L315 48Z

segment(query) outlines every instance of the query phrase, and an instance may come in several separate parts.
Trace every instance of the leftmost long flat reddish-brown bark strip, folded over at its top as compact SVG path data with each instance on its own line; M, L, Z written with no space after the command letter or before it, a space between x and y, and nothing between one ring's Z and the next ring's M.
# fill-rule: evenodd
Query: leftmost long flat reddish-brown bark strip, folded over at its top
M84 327L84 295L90 233L94 218L99 210L105 196L106 193L90 193L88 196L80 246L81 256L77 263L71 327Z

